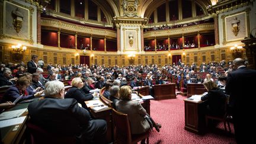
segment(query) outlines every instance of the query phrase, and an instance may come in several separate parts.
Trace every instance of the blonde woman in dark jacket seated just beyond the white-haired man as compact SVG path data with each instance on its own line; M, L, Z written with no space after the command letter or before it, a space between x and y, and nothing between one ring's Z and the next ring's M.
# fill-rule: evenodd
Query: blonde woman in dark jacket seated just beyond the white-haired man
M72 87L69 88L68 92L65 94L65 98L74 98L78 103L82 105L82 107L87 108L85 101L92 100L92 94L85 94L82 91L82 87L84 87L84 82L82 82L81 78L73 78L71 82Z

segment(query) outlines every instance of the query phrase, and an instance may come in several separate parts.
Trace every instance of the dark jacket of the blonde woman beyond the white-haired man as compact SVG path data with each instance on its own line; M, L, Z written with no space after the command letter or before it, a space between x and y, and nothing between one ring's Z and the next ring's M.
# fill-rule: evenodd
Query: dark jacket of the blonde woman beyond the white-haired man
M66 92L65 98L74 98L82 105L82 107L87 108L87 105L84 102L92 100L93 96L92 94L85 94L82 89L72 87L69 88L68 92Z

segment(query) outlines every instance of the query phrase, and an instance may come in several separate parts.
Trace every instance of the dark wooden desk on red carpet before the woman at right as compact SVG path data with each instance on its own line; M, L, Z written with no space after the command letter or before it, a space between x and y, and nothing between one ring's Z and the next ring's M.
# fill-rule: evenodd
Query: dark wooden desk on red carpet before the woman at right
M203 109L204 102L194 102L192 100L184 100L185 105L185 130L193 133L202 134L205 132L205 119Z

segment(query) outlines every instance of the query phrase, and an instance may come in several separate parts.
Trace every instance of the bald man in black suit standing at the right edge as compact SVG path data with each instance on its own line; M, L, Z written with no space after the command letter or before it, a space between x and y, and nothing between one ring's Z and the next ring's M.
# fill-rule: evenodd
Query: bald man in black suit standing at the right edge
M232 65L236 70L229 72L225 91L230 95L229 106L232 108L235 139L237 143L256 143L256 124L251 117L255 113L256 71L246 68L245 60L241 58L233 60Z

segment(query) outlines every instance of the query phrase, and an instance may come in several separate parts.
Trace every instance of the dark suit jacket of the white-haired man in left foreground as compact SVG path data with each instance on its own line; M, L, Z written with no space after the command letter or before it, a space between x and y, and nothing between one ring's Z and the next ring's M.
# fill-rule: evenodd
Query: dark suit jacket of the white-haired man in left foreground
M79 107L73 98L57 99L46 97L28 105L31 122L49 132L63 135L79 135L91 124L89 112Z

